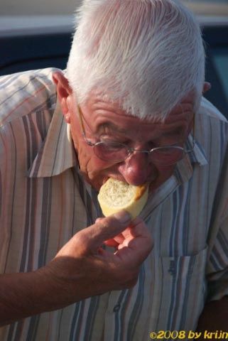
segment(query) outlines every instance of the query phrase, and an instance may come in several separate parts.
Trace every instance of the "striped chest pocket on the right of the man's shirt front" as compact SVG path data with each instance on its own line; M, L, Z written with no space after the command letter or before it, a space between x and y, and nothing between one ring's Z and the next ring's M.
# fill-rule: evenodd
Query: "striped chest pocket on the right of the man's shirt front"
M157 330L194 330L207 294L206 260L207 247L192 256L160 256L155 261Z

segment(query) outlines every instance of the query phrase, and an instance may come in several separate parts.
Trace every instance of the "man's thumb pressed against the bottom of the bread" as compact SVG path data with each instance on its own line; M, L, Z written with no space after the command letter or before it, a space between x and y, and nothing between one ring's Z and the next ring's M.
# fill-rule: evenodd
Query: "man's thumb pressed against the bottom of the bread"
M121 210L109 217L99 218L95 224L81 231L85 238L85 248L90 252L97 252L97 249L107 239L112 239L124 231L131 222L131 215Z

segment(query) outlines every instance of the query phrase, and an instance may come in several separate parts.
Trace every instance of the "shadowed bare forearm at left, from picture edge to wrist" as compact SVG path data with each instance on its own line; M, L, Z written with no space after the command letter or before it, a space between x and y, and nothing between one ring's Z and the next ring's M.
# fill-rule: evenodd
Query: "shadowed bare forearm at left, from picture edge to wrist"
M60 308L59 290L39 271L0 276L0 325Z

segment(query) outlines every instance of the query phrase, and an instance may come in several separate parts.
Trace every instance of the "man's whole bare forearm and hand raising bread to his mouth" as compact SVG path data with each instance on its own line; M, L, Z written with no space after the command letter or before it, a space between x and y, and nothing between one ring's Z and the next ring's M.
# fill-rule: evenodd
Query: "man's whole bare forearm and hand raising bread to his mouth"
M103 249L104 244L114 249ZM141 219L131 222L124 211L99 218L77 232L43 268L0 276L1 325L134 286L152 246Z

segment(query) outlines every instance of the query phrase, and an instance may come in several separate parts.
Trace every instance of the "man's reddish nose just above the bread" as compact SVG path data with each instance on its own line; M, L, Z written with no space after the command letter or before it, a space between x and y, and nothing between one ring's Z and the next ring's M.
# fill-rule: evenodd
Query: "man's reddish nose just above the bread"
M142 185L148 181L153 171L147 153L134 152L119 166L119 172L127 183Z

